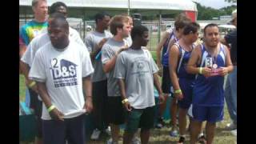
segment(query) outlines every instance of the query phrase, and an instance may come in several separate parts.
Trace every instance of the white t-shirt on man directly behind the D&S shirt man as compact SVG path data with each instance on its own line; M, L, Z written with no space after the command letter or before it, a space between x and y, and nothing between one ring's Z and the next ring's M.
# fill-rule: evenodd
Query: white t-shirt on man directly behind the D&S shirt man
M82 39L80 38L80 35L78 34L77 30L74 30L71 27L69 30L70 30L69 38L74 39L75 42L78 42L78 44L80 44L81 46L84 46L84 48L86 49L86 46L82 42ZM25 62L31 67L32 62L34 60L35 53L38 51L40 47L46 45L49 42L50 42L50 37L48 35L47 29L44 29L42 30L42 33L39 34L37 37L33 38L29 46L27 46L26 52L25 54L23 54L21 58L22 62Z

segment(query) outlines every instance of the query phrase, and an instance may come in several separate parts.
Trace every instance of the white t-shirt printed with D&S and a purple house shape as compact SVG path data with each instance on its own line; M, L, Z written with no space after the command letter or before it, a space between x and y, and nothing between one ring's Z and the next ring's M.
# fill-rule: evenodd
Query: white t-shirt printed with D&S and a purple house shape
M85 112L82 78L93 74L89 52L73 39L64 50L56 50L51 42L35 54L29 78L46 82L50 100L64 118L74 118ZM42 119L50 120L46 106L42 107Z

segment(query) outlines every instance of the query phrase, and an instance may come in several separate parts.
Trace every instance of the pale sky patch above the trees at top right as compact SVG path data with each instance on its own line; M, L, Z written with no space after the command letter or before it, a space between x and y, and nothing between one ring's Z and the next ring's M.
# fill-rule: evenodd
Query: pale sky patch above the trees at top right
M231 6L233 3L225 2L225 0L192 0L200 3L202 6L210 6L214 9L220 9L225 6Z

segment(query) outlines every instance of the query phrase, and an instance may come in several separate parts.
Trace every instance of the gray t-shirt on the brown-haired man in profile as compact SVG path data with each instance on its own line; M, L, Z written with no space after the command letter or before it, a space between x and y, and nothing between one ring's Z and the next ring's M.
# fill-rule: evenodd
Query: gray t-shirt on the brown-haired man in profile
M110 38L102 47L102 64L104 65L114 54L122 47L126 45L126 41L122 42L115 41L114 38ZM118 80L114 78L114 68L106 74L107 78L107 94L109 97L121 96L120 89L118 86Z

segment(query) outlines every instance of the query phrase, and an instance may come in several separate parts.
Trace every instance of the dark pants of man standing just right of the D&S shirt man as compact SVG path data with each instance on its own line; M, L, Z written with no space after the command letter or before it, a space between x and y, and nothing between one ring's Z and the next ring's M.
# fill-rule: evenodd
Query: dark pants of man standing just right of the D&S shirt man
M93 82L93 105L94 109L92 115L94 118L94 126L98 130L104 130L107 128L108 123L106 121L107 111L107 80L100 82Z

